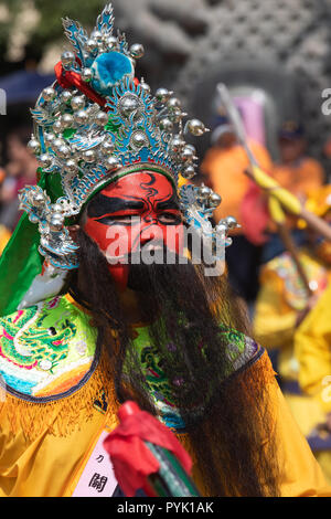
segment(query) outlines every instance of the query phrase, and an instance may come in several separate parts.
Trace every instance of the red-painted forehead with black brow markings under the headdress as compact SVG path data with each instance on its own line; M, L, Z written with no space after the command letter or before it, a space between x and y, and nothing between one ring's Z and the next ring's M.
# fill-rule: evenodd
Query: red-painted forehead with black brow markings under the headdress
M125 177L110 187L105 188L89 202L87 215L89 218L98 218L118 211L141 210L147 208L148 202L156 204L158 210L179 210L177 192L164 177L147 172L137 173L137 176L134 182L132 179ZM143 178L146 178L145 181ZM128 179L129 183L128 181L124 182L126 179ZM127 193L130 187L136 195ZM162 193L163 189L161 189L163 187L168 188L168 192L164 194ZM161 189L161 193L159 189Z

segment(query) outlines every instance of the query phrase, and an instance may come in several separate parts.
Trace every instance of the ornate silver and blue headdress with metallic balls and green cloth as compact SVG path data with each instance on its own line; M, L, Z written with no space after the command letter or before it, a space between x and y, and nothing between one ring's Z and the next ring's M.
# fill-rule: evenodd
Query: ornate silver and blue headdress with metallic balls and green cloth
M26 215L21 219L1 260L0 275L8 274L14 285L7 284L8 295L3 290L0 295L2 314L32 304L44 293L53 295L67 271L78 266L77 245L66 225L92 195L142 169L161 172L178 187L180 176L195 174L195 149L184 136L207 131L200 120L186 120L172 92L159 88L152 96L149 85L135 77L143 47L129 46L125 34L114 33L111 4L97 18L90 35L67 18L63 25L74 52L62 54L56 82L42 92L32 110L34 134L29 148L41 165L39 183L20 193L30 222ZM206 187L183 186L180 200L189 224L212 239L218 233L227 240L235 222L225 220L216 230L210 222L221 202L216 193ZM19 251L18 244L24 250ZM42 294L35 295L39 290Z

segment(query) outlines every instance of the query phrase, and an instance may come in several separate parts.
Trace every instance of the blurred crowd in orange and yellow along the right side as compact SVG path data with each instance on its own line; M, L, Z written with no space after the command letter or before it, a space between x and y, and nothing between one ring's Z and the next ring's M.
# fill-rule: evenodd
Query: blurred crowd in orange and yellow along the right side
M307 153L303 125L278 131L279 160L249 140L260 166L313 214L331 223L331 184ZM223 199L216 222L233 215L241 227L226 251L227 276L246 304L254 337L268 350L282 392L331 481L331 243L299 218L279 226L269 195L245 171L249 160L224 114L203 163L204 183ZM324 153L330 155L330 142Z

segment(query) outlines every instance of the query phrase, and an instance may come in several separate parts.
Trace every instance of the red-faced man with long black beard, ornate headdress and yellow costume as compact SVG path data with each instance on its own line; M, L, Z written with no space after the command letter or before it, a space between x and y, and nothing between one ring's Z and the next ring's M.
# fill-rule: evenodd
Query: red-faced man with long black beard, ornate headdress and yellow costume
M202 495L328 495L226 279L191 261L186 227L216 246L234 224L212 227L207 188L178 192L204 126L135 80L141 47L113 22L64 20L76 54L32 112L39 184L0 264L0 495L111 496L103 438L127 400L178 436Z

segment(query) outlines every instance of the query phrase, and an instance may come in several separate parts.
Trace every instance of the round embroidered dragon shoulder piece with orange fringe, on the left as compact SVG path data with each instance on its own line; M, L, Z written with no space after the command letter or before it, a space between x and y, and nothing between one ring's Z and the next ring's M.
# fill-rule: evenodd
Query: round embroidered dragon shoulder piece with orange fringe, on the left
M0 319L0 374L9 393L31 401L67 395L96 361L96 331L67 296Z

